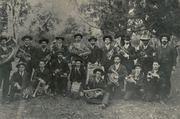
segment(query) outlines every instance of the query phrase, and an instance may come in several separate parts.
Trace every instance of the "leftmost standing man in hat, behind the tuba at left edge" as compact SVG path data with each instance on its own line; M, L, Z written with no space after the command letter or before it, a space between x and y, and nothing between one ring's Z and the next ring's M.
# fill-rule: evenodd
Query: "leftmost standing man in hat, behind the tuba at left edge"
M6 45L8 38L6 36L0 37L0 61L3 61L8 58L9 53L12 52L12 49ZM2 103L7 98L9 90L9 75L11 71L11 60L3 64L0 64L0 85L3 82L2 90Z

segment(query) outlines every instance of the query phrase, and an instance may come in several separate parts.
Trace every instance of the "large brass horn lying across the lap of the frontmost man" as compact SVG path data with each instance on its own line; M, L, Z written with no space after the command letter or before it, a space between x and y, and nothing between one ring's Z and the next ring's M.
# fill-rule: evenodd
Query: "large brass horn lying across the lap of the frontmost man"
M105 91L103 89L100 89L100 88L83 90L84 96L87 99L97 98L98 96L103 95L104 92Z

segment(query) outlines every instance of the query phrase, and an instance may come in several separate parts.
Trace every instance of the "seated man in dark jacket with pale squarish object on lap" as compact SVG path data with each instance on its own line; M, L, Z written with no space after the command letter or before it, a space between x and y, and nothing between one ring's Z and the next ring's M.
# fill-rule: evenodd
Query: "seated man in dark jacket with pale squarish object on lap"
M75 65L71 68L70 81L72 94L80 93L80 90L85 88L86 72L82 60L75 60Z

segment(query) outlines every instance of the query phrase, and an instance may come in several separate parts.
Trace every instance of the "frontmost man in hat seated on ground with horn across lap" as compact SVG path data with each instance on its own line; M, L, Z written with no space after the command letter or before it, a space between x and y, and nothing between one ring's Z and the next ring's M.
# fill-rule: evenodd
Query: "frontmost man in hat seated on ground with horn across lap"
M106 81L103 79L103 70L96 68L93 70L93 76L89 79L87 90L84 90L86 101L94 104L101 104L106 87Z

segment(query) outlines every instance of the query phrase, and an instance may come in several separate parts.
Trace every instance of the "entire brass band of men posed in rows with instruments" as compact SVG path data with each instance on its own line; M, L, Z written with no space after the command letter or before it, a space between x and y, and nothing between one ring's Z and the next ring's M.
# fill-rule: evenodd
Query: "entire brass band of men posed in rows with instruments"
M41 38L36 48L32 45L33 38L24 36L24 44L14 57L0 64L3 101L13 101L16 93L29 98L30 89L32 97L38 95L39 89L44 94L71 97L76 92L87 102L101 104L102 108L116 95L125 100L165 102L168 99L177 58L176 48L169 45L169 35L161 35L161 45L156 49L149 45L149 36L141 37L142 44L136 47L131 45L130 36L122 36L121 44L110 35L104 36L103 47L97 46L96 37L90 37L88 44L80 33L73 38L69 46L61 36L56 36L52 43ZM7 37L0 38L1 60L12 50L7 41ZM88 76L88 66L92 64L97 68Z

